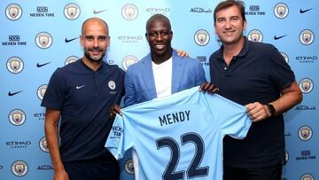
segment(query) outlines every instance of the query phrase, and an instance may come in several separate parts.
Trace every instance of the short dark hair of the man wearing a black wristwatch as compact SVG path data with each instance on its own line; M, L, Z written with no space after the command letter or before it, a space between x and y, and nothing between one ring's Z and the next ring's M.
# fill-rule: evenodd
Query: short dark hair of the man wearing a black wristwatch
M243 22L245 22L245 3L243 1L240 0L226 0L226 1L222 1L221 3L217 4L217 6L214 9L214 24L216 23L216 13L229 8L230 6L237 6L237 8L240 11L240 14L243 18Z

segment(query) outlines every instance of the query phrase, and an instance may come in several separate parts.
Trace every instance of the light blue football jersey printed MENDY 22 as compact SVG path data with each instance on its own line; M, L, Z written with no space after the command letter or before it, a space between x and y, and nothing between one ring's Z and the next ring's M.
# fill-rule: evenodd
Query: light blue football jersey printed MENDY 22
M133 147L140 180L222 180L222 138L244 138L252 123L244 106L198 87L121 113L105 146L117 160Z

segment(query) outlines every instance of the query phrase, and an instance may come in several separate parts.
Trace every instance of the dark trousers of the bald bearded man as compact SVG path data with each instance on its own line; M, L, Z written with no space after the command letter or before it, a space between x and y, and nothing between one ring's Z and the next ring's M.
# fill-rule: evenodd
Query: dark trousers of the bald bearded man
M64 163L70 180L118 180L120 168L117 161L84 160Z

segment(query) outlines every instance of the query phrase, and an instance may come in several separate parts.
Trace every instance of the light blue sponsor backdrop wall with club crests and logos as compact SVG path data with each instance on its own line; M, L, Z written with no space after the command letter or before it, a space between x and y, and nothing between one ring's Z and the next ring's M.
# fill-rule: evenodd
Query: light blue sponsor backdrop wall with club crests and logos
M214 34L219 1L2 0L0 4L0 179L51 179L53 169L40 106L51 74L82 57L82 21L108 22L111 47L105 58L126 70L149 51L145 22L167 15L173 46L198 59L209 77L208 59L221 43ZM283 179L319 179L319 2L245 1L251 41L273 43L296 74L304 100L285 113ZM316 73L315 73L316 72ZM269 132L271 133L271 132ZM275 139L274 139L275 140ZM121 179L131 179L131 160L121 160Z

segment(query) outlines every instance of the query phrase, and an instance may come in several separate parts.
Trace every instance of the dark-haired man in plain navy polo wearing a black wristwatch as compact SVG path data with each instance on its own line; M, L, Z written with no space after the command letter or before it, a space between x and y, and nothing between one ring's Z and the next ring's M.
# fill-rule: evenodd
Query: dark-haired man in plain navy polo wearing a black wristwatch
M246 106L253 124L244 140L223 141L224 180L279 180L284 158L285 111L302 95L292 69L271 44L243 36L245 6L223 1L214 9L214 27L222 42L209 59L211 81L225 98Z

